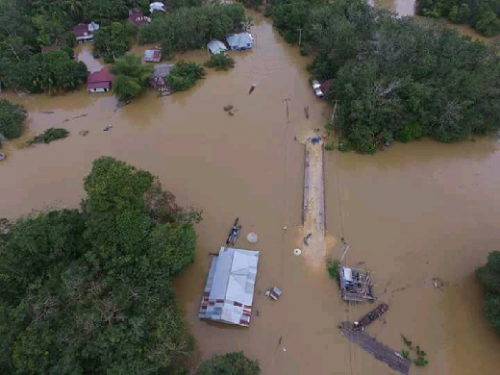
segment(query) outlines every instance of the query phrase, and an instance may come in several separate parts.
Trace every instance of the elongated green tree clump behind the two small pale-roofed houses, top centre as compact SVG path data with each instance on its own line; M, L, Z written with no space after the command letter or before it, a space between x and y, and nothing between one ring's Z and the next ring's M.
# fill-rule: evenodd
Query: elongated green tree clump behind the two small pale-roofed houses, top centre
M225 40L228 33L246 21L241 5L181 8L166 17L154 17L139 31L139 42L161 42L172 51L199 49L213 38Z

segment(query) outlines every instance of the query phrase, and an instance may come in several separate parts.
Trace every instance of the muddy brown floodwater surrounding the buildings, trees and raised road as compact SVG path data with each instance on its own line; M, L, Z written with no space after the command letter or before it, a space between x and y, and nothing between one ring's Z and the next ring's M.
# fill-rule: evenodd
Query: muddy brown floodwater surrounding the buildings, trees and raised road
M157 98L150 92L116 112L109 94L3 94L28 108L28 134L63 126L71 136L29 149L18 150L21 142L7 147L8 160L0 164L0 216L76 207L82 179L102 155L147 169L180 204L204 210L196 260L175 281L197 342L195 362L243 350L260 361L265 375L393 374L337 330L339 322L373 306L348 308L323 268L293 255L304 246L304 151L294 137L321 127L330 109L312 93L307 60L268 20L252 15L254 50L232 53L235 69L210 71L185 93ZM284 99L290 99L289 121ZM237 109L232 117L223 110L227 104ZM113 128L103 132L107 124ZM89 134L79 136L80 130ZM498 142L421 141L374 156L329 152L325 173L326 228L333 238L327 250L340 257L332 244L344 237L351 245L347 263L372 270L376 293L390 306L369 331L397 350L403 349L401 333L426 350L428 367L414 367L412 374L497 373L500 339L482 316L474 269L500 248ZM260 314L248 329L197 318L208 253L218 251L236 216L243 224L237 245L261 251L254 303ZM257 244L246 242L249 232L258 234ZM443 281L442 289L434 288L434 278ZM264 296L273 285L284 291L277 302Z

